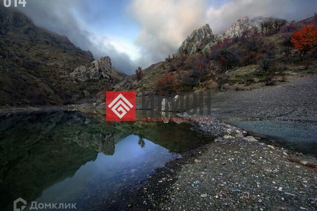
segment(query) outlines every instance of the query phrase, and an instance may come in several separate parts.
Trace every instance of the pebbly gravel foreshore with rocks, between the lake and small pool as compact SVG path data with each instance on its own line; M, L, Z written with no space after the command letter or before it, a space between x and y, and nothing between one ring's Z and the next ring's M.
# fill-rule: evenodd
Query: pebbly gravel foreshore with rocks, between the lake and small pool
M259 142L221 121L195 122L215 137L131 190L128 210L316 210L317 159Z

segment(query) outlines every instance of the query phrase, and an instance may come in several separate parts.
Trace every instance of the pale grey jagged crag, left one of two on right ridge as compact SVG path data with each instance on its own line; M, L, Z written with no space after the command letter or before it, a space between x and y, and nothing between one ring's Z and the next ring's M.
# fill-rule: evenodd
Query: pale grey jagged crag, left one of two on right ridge
M213 35L209 24L202 26L201 28L194 30L181 44L178 49L178 54L194 54L200 51L212 43L218 42L220 37Z

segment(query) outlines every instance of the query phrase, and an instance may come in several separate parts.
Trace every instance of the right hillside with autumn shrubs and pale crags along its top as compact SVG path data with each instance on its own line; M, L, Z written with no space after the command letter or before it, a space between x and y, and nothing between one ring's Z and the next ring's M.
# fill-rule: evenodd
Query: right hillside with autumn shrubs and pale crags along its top
M144 69L141 80L131 76L113 89L138 94L239 91L316 74L316 55L312 52L303 63L290 42L295 30L316 23L317 15L288 24L282 19L245 17L223 35L212 34L207 24L189 35L177 53ZM267 69L263 69L264 63Z

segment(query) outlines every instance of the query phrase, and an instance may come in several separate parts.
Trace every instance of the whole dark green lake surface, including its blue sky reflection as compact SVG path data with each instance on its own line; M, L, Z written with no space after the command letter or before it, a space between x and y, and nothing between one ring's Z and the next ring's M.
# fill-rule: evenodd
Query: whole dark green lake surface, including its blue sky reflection
M98 112L63 110L1 114L1 209L12 210L19 197L28 206L119 209L155 169L211 141L186 124L104 119Z

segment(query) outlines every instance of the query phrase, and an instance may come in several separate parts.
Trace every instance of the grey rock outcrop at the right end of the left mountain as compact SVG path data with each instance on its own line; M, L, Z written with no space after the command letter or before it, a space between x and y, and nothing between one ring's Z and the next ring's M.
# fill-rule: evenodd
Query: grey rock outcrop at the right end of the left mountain
M107 81L111 82L111 59L109 56L103 56L91 63L89 68L80 66L76 68L70 77L79 82L87 81Z

